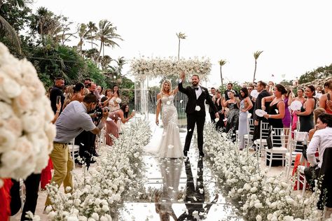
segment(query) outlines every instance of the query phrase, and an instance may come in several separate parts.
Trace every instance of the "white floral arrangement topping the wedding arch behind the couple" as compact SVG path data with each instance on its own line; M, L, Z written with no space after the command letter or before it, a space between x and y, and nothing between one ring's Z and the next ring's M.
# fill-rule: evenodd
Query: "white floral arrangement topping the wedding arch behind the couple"
M145 80L148 76L165 77L177 76L181 71L187 74L198 74L202 78L211 71L209 59L194 57L193 59L180 59L176 57L157 58L134 58L130 64L130 72L137 80Z

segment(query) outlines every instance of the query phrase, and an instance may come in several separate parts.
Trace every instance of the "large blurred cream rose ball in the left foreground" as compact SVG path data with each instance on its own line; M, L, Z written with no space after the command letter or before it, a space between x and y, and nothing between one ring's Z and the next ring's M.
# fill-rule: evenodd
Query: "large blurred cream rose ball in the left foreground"
M34 66L0 43L0 178L41 172L53 149L53 117Z

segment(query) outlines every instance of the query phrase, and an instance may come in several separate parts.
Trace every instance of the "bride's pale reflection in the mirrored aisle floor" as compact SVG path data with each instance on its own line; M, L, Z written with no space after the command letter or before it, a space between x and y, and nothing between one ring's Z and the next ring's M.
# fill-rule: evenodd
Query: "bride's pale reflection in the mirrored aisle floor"
M170 220L170 216L177 220L172 203L178 199L183 161L181 159L160 159L160 161L162 192L155 194L155 212L162 221Z

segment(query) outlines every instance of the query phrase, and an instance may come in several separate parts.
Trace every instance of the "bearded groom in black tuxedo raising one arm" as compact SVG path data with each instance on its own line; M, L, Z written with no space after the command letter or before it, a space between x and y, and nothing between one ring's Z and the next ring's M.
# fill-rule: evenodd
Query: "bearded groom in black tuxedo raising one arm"
M205 123L205 100L210 107L213 108L214 113L216 113L216 118L219 118L218 110L209 96L209 92L205 87L199 85L200 78L198 75L193 75L191 77L191 84L193 86L188 86L184 88L182 83L186 74L181 72L179 80L179 91L186 94L188 97L188 103L186 105L186 114L187 114L187 136L186 143L184 143L184 155L187 156L187 152L191 145L191 138L193 137L193 130L195 124L197 124L197 143L198 150L200 151L200 157L204 157L203 153L203 129Z

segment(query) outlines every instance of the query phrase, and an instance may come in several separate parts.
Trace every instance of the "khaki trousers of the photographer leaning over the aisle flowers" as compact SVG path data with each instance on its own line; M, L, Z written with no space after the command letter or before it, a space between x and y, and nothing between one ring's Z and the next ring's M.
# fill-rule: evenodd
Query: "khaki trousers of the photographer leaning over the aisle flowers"
M71 171L73 170L73 159L71 158L67 144L53 142L53 150L50 153L50 159L53 162L54 175L50 183L56 183L58 187L64 183L64 192L67 193L66 187L73 190L73 178ZM45 206L51 204L50 198L47 197Z

